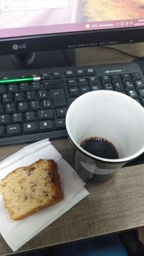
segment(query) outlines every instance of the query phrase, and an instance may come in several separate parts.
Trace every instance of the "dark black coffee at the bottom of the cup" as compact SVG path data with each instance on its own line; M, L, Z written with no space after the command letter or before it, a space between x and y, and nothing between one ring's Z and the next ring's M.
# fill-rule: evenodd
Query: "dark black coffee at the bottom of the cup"
M117 148L104 137L87 137L79 145L92 155L107 159L118 159Z

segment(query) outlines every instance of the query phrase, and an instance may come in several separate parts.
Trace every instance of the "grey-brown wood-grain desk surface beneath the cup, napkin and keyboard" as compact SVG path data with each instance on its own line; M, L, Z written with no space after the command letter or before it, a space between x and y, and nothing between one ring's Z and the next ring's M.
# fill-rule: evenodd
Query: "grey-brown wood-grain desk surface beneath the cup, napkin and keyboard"
M124 50L124 46L121 47ZM141 47L140 50L139 47ZM99 50L101 53L97 51L96 59L92 57L92 49L89 49L89 55L88 49L83 51L86 62L89 61L89 64L93 64L92 62L97 63L99 59L99 62L103 63L107 50ZM144 55L144 45L142 44L129 46L128 50L135 55ZM80 51L76 55L78 58L77 65L84 64L84 55L81 56L81 54ZM116 54L116 57L115 53L113 54L113 62L115 59L117 62L128 61L125 56L121 57L120 54ZM112 57L111 55L112 53L109 57ZM101 60L101 56L103 60ZM109 62L112 62L112 59ZM74 150L68 139L52 141L52 144L62 153L63 158L73 166ZM24 145L0 148L0 161L22 147ZM120 232L121 230L135 229L144 225L144 164L124 167L118 170L115 176L106 183L86 185L85 188L90 192L85 199L24 244L17 252L20 254L20 252L27 250ZM12 254L12 250L0 235L0 255L9 254Z

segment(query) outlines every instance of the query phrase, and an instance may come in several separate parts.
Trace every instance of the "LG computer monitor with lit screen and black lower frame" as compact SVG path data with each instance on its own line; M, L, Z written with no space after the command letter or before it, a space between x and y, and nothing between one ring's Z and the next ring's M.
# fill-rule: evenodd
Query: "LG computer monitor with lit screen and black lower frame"
M0 0L0 55L144 42L144 0Z

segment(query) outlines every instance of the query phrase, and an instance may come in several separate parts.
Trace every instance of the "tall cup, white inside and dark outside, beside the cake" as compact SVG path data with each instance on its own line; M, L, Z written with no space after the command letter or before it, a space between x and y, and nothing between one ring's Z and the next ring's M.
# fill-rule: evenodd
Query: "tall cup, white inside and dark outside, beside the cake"
M76 149L76 172L88 183L108 180L116 170L144 152L144 108L120 92L98 90L78 97L68 108L66 128ZM93 136L112 142L118 158L92 155L79 145Z

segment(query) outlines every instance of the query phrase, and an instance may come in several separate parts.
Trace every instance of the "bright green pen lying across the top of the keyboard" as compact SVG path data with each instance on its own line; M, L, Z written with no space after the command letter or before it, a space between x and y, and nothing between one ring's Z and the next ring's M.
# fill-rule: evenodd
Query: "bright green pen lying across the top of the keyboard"
M10 78L10 79L0 79L0 85L1 84L11 84L11 83L18 83L21 82L37 82L40 81L40 76L35 76L34 78Z

